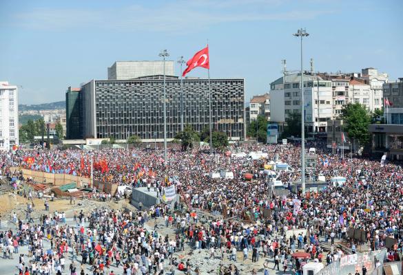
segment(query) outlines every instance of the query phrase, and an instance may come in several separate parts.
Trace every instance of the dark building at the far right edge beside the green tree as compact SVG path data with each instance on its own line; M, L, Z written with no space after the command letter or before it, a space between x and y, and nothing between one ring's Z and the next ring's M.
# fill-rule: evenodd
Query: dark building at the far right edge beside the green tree
M403 78L383 85L383 97L391 102L386 107L386 123L371 124L373 153L386 152L390 159L403 159ZM383 100L382 100L383 101Z

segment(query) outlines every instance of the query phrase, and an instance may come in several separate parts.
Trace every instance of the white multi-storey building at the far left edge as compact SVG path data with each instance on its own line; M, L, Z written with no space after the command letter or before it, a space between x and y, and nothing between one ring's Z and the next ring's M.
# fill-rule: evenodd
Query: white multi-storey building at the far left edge
M0 81L0 150L8 151L19 144L18 89Z

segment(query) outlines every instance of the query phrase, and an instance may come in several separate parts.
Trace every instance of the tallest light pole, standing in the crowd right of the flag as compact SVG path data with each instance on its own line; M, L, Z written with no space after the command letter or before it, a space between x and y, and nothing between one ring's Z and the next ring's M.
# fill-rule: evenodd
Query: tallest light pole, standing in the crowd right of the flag
M301 38L301 185L302 185L302 195L305 195L305 107L304 107L304 69L302 63L302 38L304 36L309 36L305 29L300 29L293 36ZM319 120L319 118L318 118Z

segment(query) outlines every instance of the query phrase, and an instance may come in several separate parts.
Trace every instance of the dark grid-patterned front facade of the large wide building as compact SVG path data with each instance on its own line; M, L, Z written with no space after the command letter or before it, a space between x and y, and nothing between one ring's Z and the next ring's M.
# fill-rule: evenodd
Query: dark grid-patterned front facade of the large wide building
M211 80L211 91L213 130L243 140L244 80ZM125 140L130 135L143 140L163 138L163 80L96 80L94 97L96 138ZM180 131L180 80L166 80L166 99L167 138L172 139ZM183 80L183 111L184 125L190 124L195 131L209 126L207 79Z

